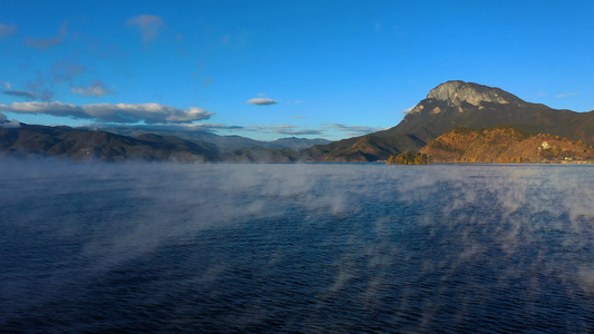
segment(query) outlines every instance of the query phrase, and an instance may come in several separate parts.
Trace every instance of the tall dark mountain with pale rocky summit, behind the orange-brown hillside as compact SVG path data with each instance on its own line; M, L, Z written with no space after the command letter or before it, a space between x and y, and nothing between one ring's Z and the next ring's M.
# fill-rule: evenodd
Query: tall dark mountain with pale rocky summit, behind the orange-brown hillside
M429 91L396 127L305 151L311 160L383 160L393 154L418 150L457 127L479 129L499 125L594 144L594 111L552 109L526 102L499 88L448 81Z

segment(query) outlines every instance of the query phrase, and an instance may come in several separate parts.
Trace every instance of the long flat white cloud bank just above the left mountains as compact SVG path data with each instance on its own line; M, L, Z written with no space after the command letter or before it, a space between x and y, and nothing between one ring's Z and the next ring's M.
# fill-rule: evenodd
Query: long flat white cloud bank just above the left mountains
M213 112L192 107L188 110L159 104L97 104L77 106L56 102L13 102L11 106L0 105L0 110L20 114L45 114L58 117L95 119L106 122L134 124L144 121L156 122L192 122L208 119Z

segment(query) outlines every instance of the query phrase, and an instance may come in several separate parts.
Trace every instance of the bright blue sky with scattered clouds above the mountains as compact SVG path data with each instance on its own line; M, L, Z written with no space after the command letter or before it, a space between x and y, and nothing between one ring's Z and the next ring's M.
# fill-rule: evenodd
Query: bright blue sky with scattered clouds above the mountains
M455 79L594 109L592 1L0 7L0 112L28 124L335 140L396 126Z

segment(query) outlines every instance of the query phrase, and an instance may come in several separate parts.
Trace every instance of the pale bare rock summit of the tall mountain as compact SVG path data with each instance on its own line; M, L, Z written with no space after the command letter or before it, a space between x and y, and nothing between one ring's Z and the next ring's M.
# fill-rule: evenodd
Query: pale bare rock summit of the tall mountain
M460 80L447 81L437 86L429 91L427 98L447 101L452 106L460 106L461 102L479 106L480 102L507 105L520 101L516 96L499 88Z

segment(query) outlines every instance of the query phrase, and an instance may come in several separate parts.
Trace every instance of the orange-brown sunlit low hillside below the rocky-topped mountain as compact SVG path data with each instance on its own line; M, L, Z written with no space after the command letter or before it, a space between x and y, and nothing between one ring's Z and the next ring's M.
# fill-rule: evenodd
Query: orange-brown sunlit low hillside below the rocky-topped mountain
M434 163L568 163L594 160L594 149L581 140L513 127L456 128L423 147Z

